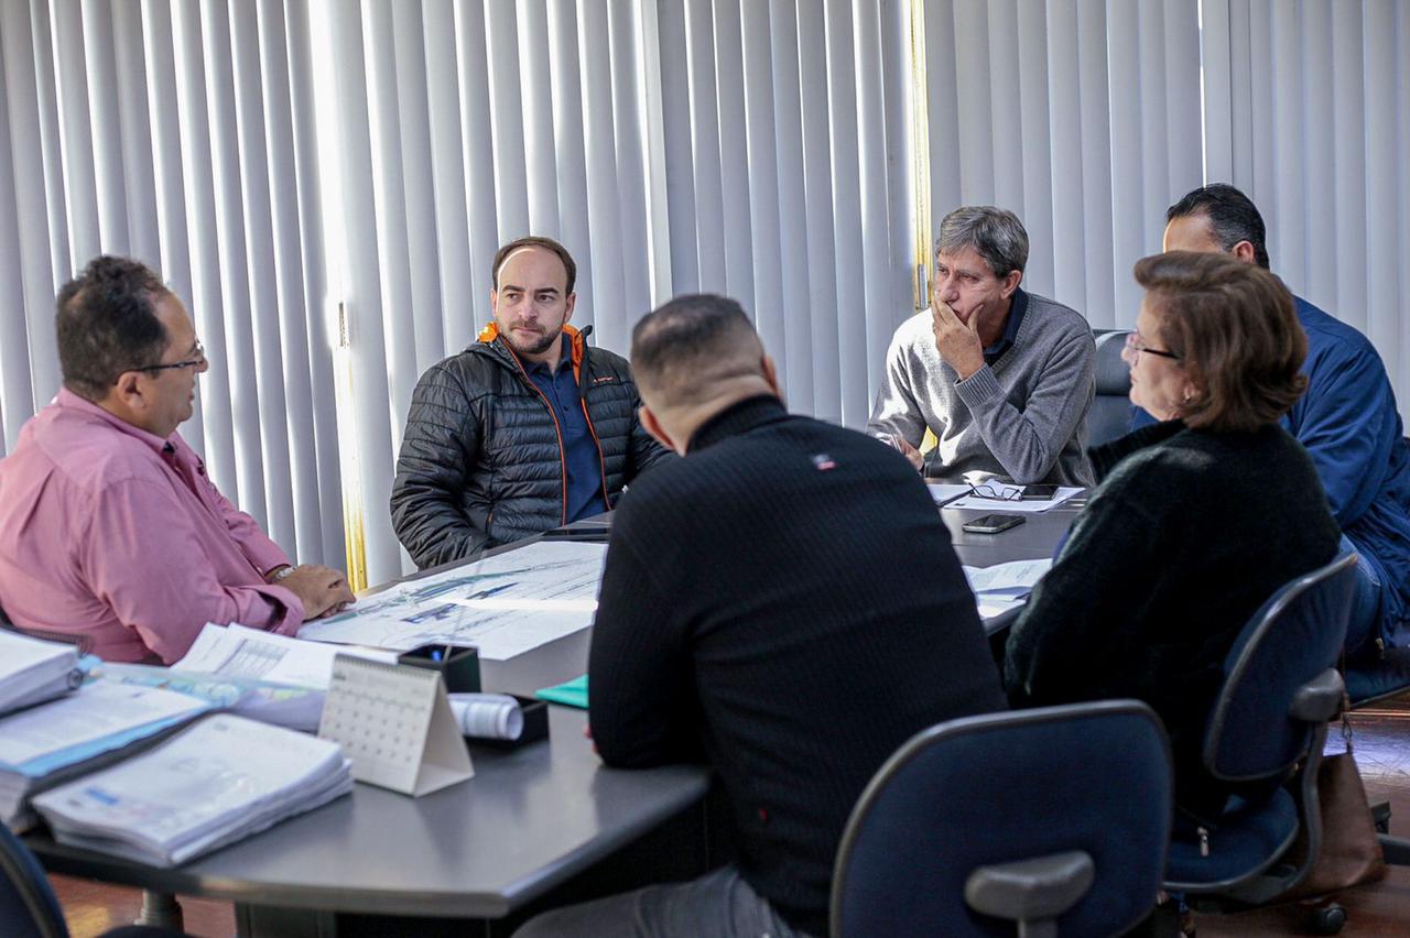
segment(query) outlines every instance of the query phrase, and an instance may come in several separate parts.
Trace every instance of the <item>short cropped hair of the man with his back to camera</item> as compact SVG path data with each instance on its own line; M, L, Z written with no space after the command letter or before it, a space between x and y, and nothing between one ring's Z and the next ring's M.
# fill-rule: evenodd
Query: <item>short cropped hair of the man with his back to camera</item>
M708 400L719 382L761 373L761 361L754 324L728 296L674 297L632 330L632 376L666 406Z

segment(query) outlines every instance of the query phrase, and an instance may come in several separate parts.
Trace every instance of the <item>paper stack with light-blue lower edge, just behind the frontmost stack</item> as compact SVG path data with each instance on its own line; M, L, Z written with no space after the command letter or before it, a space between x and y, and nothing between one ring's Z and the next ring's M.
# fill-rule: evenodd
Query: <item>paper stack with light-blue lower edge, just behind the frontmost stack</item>
M0 821L17 830L32 815L28 799L96 766L140 741L210 710L210 704L157 687L96 680L63 700L0 720Z

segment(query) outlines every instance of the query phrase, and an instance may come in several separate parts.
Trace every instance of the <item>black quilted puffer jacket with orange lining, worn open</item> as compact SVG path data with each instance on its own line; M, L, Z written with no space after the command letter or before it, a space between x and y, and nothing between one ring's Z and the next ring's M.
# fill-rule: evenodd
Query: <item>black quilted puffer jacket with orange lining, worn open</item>
M572 339L574 375L602 455L603 499L666 456L642 428L626 359ZM416 383L392 483L392 524L419 568L564 524L565 472L548 401L494 324Z

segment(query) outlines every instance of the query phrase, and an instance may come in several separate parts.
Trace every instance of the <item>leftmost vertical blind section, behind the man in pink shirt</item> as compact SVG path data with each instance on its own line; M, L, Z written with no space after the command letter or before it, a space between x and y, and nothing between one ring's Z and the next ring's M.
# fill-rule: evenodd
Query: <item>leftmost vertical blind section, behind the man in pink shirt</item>
M212 361L182 434L290 554L343 556L298 3L0 4L0 417L58 390L54 297L99 254L158 269Z

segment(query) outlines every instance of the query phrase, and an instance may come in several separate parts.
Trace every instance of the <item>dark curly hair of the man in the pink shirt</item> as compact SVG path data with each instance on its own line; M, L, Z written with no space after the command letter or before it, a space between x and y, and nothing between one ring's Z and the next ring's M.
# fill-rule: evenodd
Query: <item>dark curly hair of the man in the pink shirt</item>
M100 400L123 372L159 361L171 337L155 301L168 293L147 265L109 255L65 283L55 317L65 387Z

